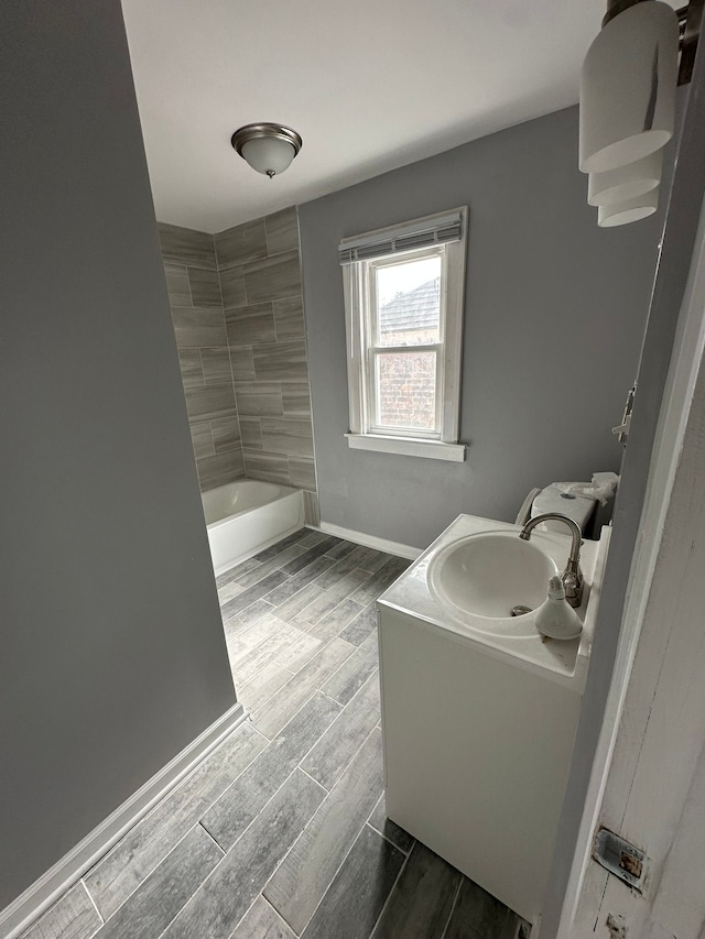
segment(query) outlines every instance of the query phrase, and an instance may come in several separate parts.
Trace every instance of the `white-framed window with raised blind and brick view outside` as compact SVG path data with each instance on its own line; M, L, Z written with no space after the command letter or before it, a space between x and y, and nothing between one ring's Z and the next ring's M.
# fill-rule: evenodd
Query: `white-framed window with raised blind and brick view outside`
M460 461L467 209L340 242L350 447Z

